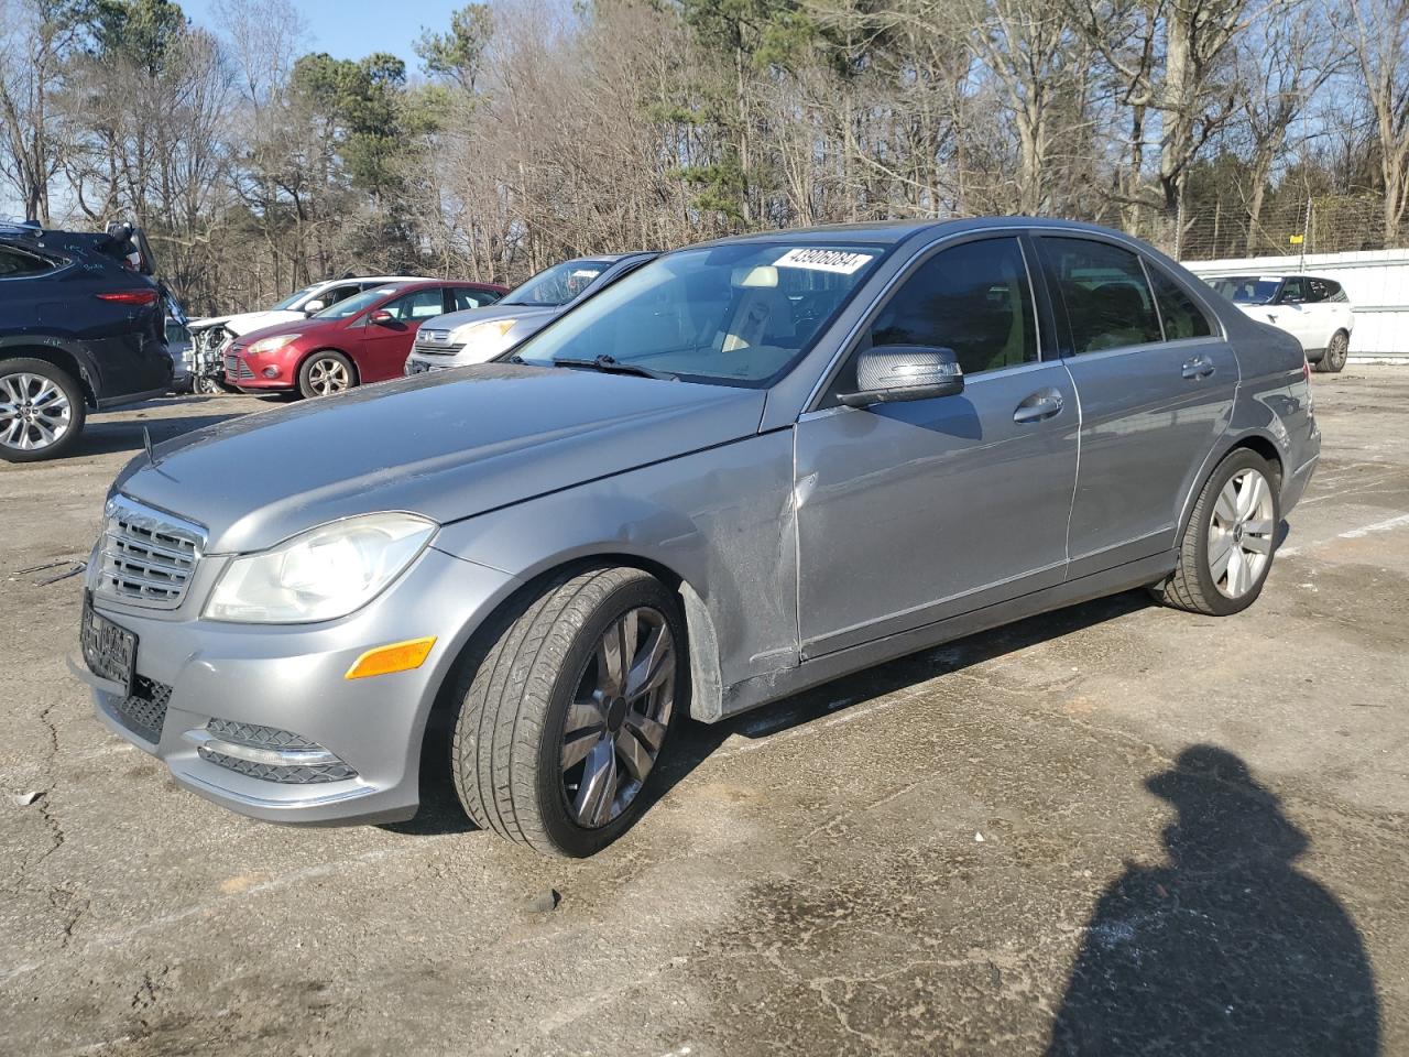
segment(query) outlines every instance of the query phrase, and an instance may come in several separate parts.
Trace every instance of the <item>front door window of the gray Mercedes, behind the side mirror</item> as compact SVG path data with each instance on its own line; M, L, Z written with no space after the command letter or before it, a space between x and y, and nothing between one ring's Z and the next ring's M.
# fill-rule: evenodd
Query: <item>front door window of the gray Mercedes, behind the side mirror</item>
M941 249L886 303L869 338L871 345L952 348L965 375L1034 362L1037 324L1017 240Z

